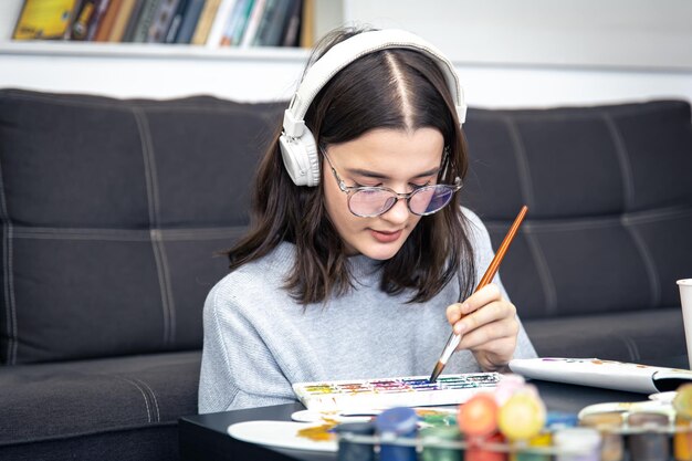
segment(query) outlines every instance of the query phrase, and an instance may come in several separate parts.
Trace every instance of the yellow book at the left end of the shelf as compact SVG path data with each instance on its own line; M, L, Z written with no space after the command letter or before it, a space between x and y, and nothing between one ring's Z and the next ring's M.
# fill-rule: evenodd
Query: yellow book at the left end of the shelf
M13 40L61 40L70 34L77 0L25 0Z

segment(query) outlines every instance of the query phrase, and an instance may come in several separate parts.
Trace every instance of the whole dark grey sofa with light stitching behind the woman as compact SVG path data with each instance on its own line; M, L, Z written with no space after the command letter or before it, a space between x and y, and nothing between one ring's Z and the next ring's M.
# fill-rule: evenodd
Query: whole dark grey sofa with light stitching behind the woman
M284 104L0 91L0 459L176 459L206 293ZM542 355L684 355L685 102L471 109L463 200Z

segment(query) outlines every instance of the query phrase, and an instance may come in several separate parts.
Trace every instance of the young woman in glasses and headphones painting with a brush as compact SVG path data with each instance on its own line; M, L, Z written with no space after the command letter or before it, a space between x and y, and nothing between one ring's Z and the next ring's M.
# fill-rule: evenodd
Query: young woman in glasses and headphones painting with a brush
M506 369L535 352L458 190L457 75L403 31L338 30L313 53L255 179L252 228L205 305L200 412L295 400L300 381ZM472 294L473 293L473 294Z

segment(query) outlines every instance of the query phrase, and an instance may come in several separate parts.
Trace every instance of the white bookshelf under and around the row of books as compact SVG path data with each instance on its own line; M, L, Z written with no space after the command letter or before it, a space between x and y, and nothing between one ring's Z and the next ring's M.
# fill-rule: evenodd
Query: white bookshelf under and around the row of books
M340 24L342 0L313 0L316 36ZM157 43L13 41L23 0L0 1L0 87L115 97L211 94L238 101L289 98L308 50Z

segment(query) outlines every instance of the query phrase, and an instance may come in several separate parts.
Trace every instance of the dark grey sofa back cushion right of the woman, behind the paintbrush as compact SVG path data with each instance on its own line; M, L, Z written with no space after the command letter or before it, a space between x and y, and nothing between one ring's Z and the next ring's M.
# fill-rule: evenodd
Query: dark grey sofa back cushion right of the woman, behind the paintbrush
M522 318L680 306L675 281L692 276L689 103L468 118L463 200L495 245L530 208L500 269Z

